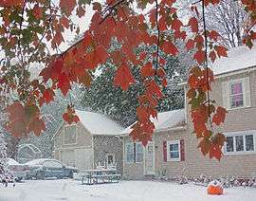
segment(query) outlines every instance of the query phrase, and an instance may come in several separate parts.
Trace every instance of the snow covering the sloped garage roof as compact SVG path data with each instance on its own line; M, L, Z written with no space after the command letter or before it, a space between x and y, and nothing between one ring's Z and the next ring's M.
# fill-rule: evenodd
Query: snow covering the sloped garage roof
M76 114L92 135L115 136L124 129L114 120L99 113L76 110Z

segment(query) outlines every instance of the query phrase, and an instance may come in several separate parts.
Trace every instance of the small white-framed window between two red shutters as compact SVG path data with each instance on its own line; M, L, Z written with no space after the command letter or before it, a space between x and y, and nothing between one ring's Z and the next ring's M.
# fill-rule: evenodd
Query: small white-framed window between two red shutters
M167 142L167 159L168 161L180 161L180 141Z

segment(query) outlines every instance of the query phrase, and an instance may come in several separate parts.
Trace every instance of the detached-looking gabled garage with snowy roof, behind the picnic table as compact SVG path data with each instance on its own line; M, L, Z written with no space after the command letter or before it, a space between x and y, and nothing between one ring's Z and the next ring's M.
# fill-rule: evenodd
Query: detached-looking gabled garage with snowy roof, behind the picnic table
M64 123L53 137L54 157L80 170L117 165L122 172L122 143L116 137L123 127L98 113L76 111L77 124Z

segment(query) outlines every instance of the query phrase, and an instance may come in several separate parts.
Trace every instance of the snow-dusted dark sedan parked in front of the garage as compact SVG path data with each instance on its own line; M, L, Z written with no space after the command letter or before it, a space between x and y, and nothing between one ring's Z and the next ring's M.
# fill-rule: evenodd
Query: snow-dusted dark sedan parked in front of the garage
M73 178L74 173L79 170L74 167L65 166L62 162L50 158L38 158L28 161L26 165L29 168L27 178L45 179L47 177Z

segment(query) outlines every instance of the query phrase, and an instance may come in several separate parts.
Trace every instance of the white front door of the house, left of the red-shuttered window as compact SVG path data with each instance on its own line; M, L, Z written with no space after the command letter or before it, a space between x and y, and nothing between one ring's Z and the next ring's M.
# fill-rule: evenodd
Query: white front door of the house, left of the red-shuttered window
M155 146L154 142L149 142L145 147L144 156L144 174L152 175L155 174Z

